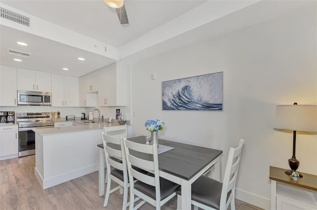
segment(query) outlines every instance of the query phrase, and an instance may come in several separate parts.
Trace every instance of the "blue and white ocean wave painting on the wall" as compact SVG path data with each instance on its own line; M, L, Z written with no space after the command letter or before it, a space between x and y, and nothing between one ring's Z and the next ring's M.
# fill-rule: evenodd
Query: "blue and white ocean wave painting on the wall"
M222 72L162 82L163 110L222 110Z

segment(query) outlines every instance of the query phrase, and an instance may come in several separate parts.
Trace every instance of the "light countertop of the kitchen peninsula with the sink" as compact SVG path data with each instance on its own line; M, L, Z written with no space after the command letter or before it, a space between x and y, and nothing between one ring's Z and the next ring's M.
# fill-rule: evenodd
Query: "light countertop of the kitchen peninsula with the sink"
M84 124L83 121L88 120L75 120L73 121L73 126L65 126L65 127L55 127L55 128L38 128L33 129L33 131L40 136L43 135L53 135L53 134L60 134L60 133L69 133L69 132L78 132L78 131L89 131L89 130L97 130L97 129L103 129L106 127L112 127L112 126L120 126L117 121L107 123L107 122L98 122L98 120L95 123L89 123ZM59 122L69 122L69 121L59 121Z

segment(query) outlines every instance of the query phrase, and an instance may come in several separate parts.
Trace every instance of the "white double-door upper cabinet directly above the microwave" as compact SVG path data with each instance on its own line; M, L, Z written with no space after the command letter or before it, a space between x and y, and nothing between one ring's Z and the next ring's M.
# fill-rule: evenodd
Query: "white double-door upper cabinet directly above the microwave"
M18 68L17 78L18 90L51 92L51 73Z

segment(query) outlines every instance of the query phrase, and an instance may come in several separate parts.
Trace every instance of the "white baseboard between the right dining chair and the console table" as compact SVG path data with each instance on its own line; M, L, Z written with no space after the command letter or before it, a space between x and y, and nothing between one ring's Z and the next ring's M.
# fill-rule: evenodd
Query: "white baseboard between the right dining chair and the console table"
M237 189L235 190L235 198L238 200L241 200L243 202L246 202L248 204L252 204L256 207L260 207L264 210L269 210L271 208L271 200Z

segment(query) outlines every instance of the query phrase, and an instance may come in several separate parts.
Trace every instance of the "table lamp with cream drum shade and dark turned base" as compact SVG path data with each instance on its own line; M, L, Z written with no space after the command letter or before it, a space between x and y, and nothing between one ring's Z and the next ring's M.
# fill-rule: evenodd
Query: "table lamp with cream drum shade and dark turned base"
M277 105L274 128L293 131L293 155L288 159L291 170L285 171L291 175L299 166L295 157L296 131L317 132L317 105ZM300 177L303 175L300 174Z

